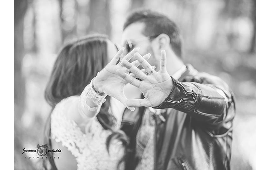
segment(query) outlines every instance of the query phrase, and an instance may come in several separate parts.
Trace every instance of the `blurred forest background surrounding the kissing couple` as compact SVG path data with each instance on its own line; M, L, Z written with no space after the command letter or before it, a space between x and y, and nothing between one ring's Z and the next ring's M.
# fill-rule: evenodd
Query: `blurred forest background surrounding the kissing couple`
M237 107L231 168L256 169L254 0L15 0L14 169L37 168L38 159L25 159L22 149L42 144L50 113L44 90L63 43L95 32L120 43L125 17L141 7L177 23L186 63L231 86Z

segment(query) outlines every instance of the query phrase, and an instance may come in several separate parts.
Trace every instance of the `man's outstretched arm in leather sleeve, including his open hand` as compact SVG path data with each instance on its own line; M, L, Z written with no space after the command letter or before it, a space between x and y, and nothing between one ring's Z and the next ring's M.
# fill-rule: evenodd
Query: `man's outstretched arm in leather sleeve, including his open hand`
M193 77L194 82L179 82L172 79L166 70L166 53L164 50L161 51L160 70L158 72L154 71L140 54L134 54L134 57L149 74L145 74L126 61L123 62L124 66L141 81L124 71L117 70L119 76L138 87L145 97L144 99L127 101L128 106L145 106L158 109L174 108L193 116L198 121L204 121L213 126L221 125L223 121L233 119L234 115L228 114L228 112L234 108L234 99L231 90L220 78L204 73L204 75L198 74L198 77ZM198 81L195 82L197 79Z

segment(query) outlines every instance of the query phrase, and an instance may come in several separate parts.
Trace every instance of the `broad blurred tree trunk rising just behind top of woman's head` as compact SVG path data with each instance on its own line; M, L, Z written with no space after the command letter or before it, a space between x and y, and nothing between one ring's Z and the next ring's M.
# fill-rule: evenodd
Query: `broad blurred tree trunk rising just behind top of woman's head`
M111 37L109 1L90 0L89 16L90 24L87 33L101 33Z

